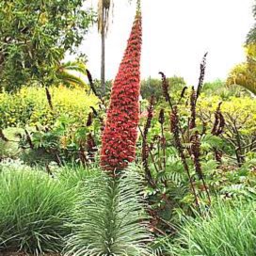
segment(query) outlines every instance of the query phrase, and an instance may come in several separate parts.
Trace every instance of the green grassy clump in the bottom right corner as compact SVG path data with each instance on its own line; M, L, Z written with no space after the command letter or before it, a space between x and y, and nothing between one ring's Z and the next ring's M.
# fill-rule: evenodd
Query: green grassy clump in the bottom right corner
M169 246L168 255L255 255L255 210L255 203L234 207L221 202L204 216L186 219L180 238Z

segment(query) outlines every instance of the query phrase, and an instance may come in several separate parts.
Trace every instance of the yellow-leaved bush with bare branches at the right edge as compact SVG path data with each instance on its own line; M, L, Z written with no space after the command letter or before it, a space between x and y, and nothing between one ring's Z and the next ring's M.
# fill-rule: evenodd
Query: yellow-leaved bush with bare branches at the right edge
M215 122L215 113L221 102L219 96L206 97L201 95L199 102L200 120ZM256 152L256 101L252 97L231 97L222 102L220 111L225 120L222 138L226 145L232 149L234 160L242 166L246 157L251 152Z

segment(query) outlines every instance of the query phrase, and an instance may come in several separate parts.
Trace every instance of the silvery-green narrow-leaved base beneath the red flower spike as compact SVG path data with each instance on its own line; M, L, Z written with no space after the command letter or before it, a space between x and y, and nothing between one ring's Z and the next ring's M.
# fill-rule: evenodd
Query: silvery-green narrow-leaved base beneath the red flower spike
M86 181L72 216L66 255L152 255L141 193L140 178L132 170L116 181L106 173Z

